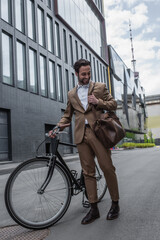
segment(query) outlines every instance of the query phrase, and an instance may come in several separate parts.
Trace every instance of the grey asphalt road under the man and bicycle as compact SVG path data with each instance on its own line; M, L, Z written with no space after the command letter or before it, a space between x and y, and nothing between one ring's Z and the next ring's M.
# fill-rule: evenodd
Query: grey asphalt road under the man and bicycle
M101 217L81 225L88 209L81 205L81 194L72 198L65 216L53 227L46 240L159 240L160 239L160 148L114 151L120 190L120 217L107 221L109 193L99 203ZM77 162L70 167L79 169ZM8 175L0 176L0 226L14 224L8 215L3 194Z

